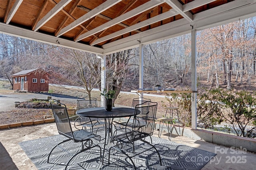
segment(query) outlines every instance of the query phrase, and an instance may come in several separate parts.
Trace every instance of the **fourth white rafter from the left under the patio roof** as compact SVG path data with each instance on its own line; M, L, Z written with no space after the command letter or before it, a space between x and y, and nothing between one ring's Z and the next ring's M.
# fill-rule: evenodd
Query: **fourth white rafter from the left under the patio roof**
M112 27L113 25L116 25L122 21L125 21L125 20L128 20L129 18L132 18L146 10L149 10L151 8L154 8L155 6L158 6L160 4L164 3L163 0L152 0L152 1L149 1L149 2L146 2L145 4L142 4L141 6L133 9L133 10L130 10L129 12L126 12L124 14L122 14L121 16L117 17L117 18L114 18L113 20L110 20L102 25L100 25L99 27L96 27L82 35L80 35L77 39L76 39L76 42L77 41L80 41L86 37L90 37L91 35L94 35L100 31L103 31L105 29L108 29L109 27Z

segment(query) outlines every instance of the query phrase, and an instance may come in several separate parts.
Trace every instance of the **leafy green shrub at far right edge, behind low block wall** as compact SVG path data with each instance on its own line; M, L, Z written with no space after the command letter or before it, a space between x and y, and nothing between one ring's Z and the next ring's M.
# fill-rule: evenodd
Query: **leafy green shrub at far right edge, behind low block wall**
M222 117L228 122L236 135L255 137L256 129L256 98L249 92L219 90L218 99L224 111Z

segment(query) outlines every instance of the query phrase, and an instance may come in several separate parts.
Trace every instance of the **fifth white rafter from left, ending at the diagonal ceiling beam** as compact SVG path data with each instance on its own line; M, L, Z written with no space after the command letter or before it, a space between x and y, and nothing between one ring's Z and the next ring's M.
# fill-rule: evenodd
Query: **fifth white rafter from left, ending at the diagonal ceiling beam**
M106 35L105 37L102 37L100 39L97 39L94 41L94 43L92 43L91 45L95 45L95 44L98 44L98 43L101 43L103 41L106 41L108 39L112 39L114 37L118 37L120 35L123 35L125 33L129 33L131 31L134 31L136 29L139 29L139 28L142 28L142 27L145 27L147 25L150 25L152 23L156 23L158 21L162 21L162 20L165 20L166 18L170 18L172 16L175 16L177 15L178 12L176 12L175 10L171 9L170 11L168 12L165 12L163 14L159 14L158 16L155 16L153 18L150 18L148 20L145 20L145 21L142 21L142 22L139 22L139 23L136 23L130 27L127 27L127 28L124 28L124 29L121 29L119 31L116 31L115 33L112 33L112 34L109 34L109 35Z

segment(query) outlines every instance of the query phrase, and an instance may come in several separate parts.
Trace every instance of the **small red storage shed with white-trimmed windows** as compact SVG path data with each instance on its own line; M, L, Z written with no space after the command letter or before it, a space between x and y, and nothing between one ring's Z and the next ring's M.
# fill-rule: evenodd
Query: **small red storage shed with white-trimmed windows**
M12 74L13 90L24 92L48 92L49 74L41 68L23 70Z

